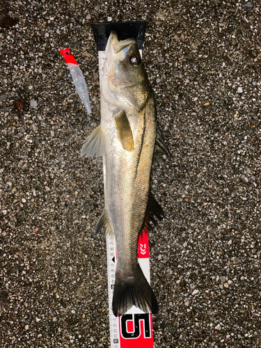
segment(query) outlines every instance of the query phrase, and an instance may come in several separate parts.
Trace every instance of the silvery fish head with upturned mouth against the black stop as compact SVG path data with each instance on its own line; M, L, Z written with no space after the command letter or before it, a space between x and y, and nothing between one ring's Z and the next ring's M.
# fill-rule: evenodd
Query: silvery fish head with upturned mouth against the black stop
M105 50L102 95L111 104L139 113L152 93L136 40L119 41L111 31Z

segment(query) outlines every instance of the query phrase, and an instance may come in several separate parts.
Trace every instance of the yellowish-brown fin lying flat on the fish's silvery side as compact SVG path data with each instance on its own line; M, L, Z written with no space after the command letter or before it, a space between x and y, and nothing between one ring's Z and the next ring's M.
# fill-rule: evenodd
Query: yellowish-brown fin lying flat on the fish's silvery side
M132 151L134 149L134 141L132 136L132 129L129 125L129 120L126 116L125 111L120 111L114 116L116 129L118 132L118 138L122 144L122 148L127 151Z

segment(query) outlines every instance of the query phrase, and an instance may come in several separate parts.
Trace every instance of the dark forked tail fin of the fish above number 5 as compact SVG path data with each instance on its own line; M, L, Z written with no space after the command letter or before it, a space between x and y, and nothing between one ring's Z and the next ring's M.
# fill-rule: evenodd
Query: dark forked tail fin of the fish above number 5
M114 285L112 310L118 317L123 315L136 306L145 313L156 314L159 312L159 306L150 284L145 278L140 265L135 271L134 276L124 278L116 271L116 281Z

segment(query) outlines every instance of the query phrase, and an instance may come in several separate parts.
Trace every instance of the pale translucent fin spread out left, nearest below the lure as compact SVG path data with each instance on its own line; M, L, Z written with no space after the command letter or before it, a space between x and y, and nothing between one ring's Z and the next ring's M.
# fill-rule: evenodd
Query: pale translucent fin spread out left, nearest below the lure
M106 153L106 140L101 125L97 127L81 148L81 157L99 157Z

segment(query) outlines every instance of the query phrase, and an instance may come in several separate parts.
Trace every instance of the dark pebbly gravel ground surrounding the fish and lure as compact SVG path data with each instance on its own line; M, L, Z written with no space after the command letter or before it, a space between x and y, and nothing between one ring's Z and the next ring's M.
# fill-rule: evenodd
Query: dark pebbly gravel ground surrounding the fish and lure
M261 347L259 1L0 4L0 346L109 347L91 22L145 20L143 57L171 157L150 232L157 347ZM92 116L58 50L88 81Z

